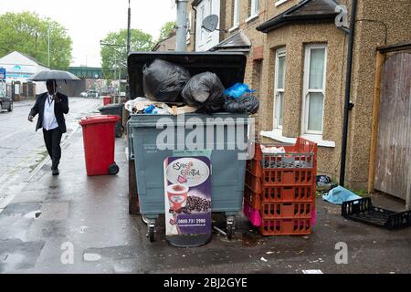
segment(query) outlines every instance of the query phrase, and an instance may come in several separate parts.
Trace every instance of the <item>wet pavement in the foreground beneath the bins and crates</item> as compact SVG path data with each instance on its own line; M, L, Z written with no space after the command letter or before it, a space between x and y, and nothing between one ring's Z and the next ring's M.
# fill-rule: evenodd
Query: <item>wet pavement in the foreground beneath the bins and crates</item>
M0 273L410 273L411 228L387 231L347 221L341 207L318 199L317 225L309 236L258 235L237 217L233 240L216 230L196 248L168 245L163 217L150 243L140 216L128 214L126 138L116 139L116 176L88 177L82 131L68 138L53 177L49 162L37 168L0 214ZM28 166L27 166L28 167ZM401 211L383 195L376 205ZM214 214L224 231L225 217ZM337 265L338 243L348 264Z

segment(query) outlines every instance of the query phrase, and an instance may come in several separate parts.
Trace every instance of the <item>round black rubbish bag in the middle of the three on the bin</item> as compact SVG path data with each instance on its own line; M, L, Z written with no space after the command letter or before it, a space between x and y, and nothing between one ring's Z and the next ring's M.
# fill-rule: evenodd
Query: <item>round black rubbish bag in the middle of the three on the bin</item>
M182 97L190 107L214 113L223 110L224 86L216 74L205 72L195 75L185 85Z

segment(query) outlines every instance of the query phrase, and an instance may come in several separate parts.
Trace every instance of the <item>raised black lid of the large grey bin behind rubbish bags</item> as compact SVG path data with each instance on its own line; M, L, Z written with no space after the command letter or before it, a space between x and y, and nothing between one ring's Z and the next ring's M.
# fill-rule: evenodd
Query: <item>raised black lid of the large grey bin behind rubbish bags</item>
M216 73L226 89L244 82L247 57L242 53L132 52L127 60L132 98L144 96L142 68L156 58L183 66L192 77L206 71Z

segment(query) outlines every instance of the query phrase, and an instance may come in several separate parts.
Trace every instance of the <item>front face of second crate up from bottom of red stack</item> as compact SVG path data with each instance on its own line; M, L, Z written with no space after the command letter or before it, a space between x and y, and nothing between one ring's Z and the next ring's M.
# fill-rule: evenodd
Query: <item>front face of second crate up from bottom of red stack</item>
M311 218L311 202L262 203L261 215L264 219Z

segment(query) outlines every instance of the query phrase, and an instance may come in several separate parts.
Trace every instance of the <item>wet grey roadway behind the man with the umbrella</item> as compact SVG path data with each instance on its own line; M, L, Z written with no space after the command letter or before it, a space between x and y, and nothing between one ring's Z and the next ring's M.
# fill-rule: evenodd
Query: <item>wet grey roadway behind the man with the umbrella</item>
M43 133L35 131L37 117L33 123L27 120L34 102L15 102L12 112L0 113L0 212L47 160ZM69 98L68 132L63 135L62 143L79 127L78 120L101 103L101 99Z

